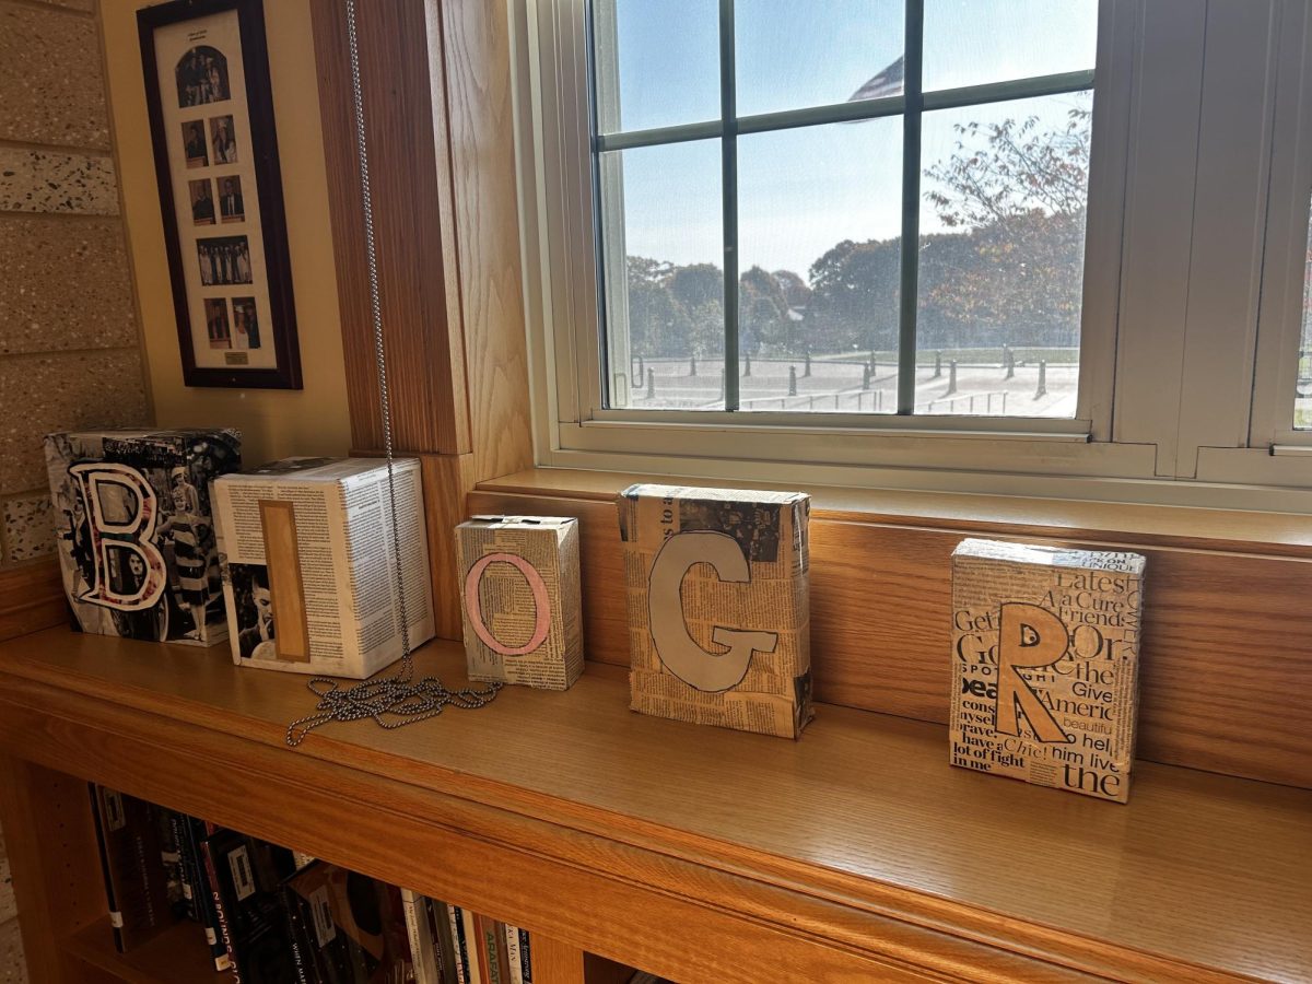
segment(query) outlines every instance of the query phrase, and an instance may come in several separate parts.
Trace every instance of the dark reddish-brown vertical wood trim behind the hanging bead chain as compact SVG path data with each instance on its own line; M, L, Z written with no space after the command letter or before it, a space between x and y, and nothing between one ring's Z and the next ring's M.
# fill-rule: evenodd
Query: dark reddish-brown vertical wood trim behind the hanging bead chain
M312 0L312 10L352 445L380 449L345 8ZM464 340L424 5L373 0L358 29L394 438L398 450L461 454L470 450Z

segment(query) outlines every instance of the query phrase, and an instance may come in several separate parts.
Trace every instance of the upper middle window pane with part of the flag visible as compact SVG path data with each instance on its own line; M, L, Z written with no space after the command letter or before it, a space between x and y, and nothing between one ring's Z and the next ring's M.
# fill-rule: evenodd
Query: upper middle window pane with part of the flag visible
M901 0L737 0L739 115L903 91Z

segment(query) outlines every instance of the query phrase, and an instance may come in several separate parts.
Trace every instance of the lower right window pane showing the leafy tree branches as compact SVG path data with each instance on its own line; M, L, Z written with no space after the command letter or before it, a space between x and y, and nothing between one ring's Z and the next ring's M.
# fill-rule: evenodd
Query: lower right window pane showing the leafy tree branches
M916 413L1075 416L1092 106L925 114Z

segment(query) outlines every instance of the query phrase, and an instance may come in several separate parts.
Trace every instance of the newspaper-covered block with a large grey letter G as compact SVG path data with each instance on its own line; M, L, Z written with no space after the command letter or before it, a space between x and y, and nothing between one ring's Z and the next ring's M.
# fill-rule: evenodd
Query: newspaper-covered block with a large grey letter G
M632 485L618 509L631 707L798 737L812 716L810 499Z

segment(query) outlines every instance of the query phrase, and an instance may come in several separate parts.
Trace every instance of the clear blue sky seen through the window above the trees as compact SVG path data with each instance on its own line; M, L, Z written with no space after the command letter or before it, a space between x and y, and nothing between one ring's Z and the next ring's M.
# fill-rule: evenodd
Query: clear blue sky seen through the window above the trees
M716 0L597 0L617 10L625 130L719 115ZM740 115L846 100L903 52L899 0L737 0ZM925 88L1092 68L1097 0L925 0ZM1078 97L926 114L924 161L951 122L1036 114L1060 125ZM623 152L628 252L719 264L719 142ZM740 266L806 276L842 239L899 234L901 125L837 123L739 139ZM932 213L922 227L937 227Z

